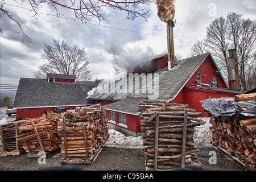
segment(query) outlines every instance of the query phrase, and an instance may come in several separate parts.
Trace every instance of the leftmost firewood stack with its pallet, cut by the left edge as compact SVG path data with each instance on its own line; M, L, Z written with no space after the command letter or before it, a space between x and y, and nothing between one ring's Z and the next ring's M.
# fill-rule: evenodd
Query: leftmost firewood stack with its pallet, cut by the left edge
M23 121L7 122L0 125L0 137L2 144L0 157L23 154L23 148L16 139L16 136L18 135L18 126L22 122Z

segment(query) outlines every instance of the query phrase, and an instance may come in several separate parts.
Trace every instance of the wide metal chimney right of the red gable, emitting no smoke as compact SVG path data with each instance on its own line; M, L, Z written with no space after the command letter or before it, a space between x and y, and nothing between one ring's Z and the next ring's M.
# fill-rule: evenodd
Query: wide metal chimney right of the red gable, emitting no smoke
M229 78L229 89L240 90L240 78L238 73L237 65L237 52L236 49L228 50L229 57L227 59L228 78Z

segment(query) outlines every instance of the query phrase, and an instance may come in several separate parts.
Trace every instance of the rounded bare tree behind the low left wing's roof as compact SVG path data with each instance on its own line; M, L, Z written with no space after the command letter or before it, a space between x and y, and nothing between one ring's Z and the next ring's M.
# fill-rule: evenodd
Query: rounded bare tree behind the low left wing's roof
M92 74L88 70L90 64L84 48L70 46L64 41L53 39L53 46L44 44L41 57L46 60L44 65L34 72L34 77L45 78L46 73L76 75L77 80L90 80Z

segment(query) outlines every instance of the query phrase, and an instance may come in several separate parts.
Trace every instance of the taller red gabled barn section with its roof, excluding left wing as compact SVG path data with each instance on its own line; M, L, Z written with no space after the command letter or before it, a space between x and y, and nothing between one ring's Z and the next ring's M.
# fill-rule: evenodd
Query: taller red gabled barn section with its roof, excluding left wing
M210 53L176 60L175 65L176 67L167 69L167 53L156 56L151 61L128 69L128 73L138 73L137 77L130 79L130 74L114 82L106 80L105 85L109 86L102 89L104 84L98 85L97 90L88 99L93 104L105 105L110 128L127 135L137 136L141 134L137 107L139 101L154 97L154 100L188 104L189 107L203 113L205 117L200 101L207 98L234 97L240 93L228 89ZM129 84L130 81L133 81L133 84ZM143 88L147 89L149 83L154 85L152 86L155 89L154 93L152 89L151 92L149 90L143 92ZM136 85L138 85L137 88Z

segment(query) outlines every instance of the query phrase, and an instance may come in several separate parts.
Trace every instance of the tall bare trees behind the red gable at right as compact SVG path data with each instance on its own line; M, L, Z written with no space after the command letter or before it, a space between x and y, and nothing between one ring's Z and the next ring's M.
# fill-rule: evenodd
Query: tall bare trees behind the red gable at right
M207 27L207 38L204 43L197 42L191 48L191 53L201 52L204 44L218 68L224 76L228 76L226 68L227 51L236 48L238 59L238 72L240 75L241 89L253 87L255 81L255 48L256 48L256 20L243 19L241 14L229 13L226 18L220 17L213 20Z

